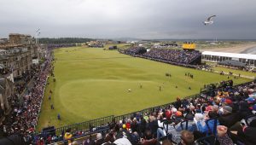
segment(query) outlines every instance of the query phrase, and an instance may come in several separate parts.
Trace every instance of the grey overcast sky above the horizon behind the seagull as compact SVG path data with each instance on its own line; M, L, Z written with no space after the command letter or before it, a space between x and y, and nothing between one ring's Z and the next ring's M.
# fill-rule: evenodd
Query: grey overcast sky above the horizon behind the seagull
M38 28L49 38L255 39L256 0L0 0L0 38Z

